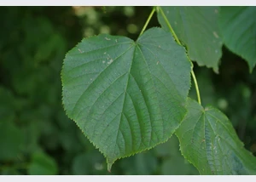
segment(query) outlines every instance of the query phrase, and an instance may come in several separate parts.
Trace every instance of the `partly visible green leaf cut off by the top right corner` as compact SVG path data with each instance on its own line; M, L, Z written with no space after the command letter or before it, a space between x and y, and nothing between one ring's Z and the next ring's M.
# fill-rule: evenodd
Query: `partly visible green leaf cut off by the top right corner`
M256 7L221 7L218 18L224 44L247 60L252 72L256 64Z

